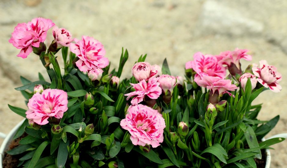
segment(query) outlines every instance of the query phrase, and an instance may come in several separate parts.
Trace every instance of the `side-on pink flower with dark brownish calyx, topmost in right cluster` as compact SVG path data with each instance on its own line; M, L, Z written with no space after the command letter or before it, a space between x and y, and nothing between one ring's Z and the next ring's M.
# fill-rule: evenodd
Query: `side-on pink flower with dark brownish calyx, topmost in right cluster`
M224 51L216 56L217 60L221 64L225 64L228 67L228 70L231 75L235 75L242 73L241 64L239 62L240 59L245 59L247 61L252 60L252 56L246 54L248 52L247 49L238 49L236 48L234 51Z

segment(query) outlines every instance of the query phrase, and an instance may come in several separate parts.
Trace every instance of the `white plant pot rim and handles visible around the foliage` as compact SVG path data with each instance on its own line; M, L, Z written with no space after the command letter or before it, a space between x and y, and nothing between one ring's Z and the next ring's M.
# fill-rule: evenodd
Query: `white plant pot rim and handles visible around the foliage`
M5 134L3 133L0 133L0 138L2 137L5 137L1 147L0 147L0 154L1 154L1 157L0 157L0 168L3 168L2 166L2 160L3 160L3 157L4 157L4 153L5 151L8 149L8 146L10 144L10 142L12 141L14 135L16 134L16 131L19 129L19 127L22 125L22 123L25 121L25 119L23 119L21 122L19 122L11 131L10 133L5 137ZM282 138L286 138L287 139L287 133L281 133L281 134L277 134L277 135L274 135L272 137L269 137L267 138L266 140L268 139L271 139L271 138L276 138L276 137L282 137ZM265 138L262 138L262 141L266 141ZM271 155L270 155L270 150L269 149L266 149L266 166L265 168L270 168L270 165L271 165Z

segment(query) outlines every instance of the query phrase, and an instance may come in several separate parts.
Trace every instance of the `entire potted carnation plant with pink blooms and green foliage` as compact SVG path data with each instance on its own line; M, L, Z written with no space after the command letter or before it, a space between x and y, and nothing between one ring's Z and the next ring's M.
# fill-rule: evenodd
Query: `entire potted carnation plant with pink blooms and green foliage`
M282 89L281 74L266 60L243 71L248 50L195 53L185 77L172 76L166 59L160 67L142 55L123 79L127 50L110 70L101 42L73 39L54 25L35 18L18 24L9 40L21 49L18 57L38 55L49 75L21 77L15 89L27 110L9 105L27 118L14 136L19 145L7 151L19 167L256 167L262 149L284 140L261 141L279 116L260 121L261 104L252 104L262 91Z

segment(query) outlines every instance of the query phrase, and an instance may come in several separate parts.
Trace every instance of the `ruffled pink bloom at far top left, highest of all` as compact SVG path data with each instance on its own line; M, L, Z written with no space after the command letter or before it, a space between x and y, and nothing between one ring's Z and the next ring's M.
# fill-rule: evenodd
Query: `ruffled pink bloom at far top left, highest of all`
M27 58L33 47L39 47L44 42L49 28L55 24L50 19L34 18L31 22L18 24L12 33L9 42L17 49L21 49L17 57Z

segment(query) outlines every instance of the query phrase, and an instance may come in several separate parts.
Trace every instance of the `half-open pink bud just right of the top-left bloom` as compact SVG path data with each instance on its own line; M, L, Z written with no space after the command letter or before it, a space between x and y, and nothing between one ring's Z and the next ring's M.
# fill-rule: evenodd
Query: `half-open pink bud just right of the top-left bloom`
M59 28L57 26L53 27L53 36L56 43L58 44L57 48L62 46L68 47L71 42L74 41L72 34L65 28Z

